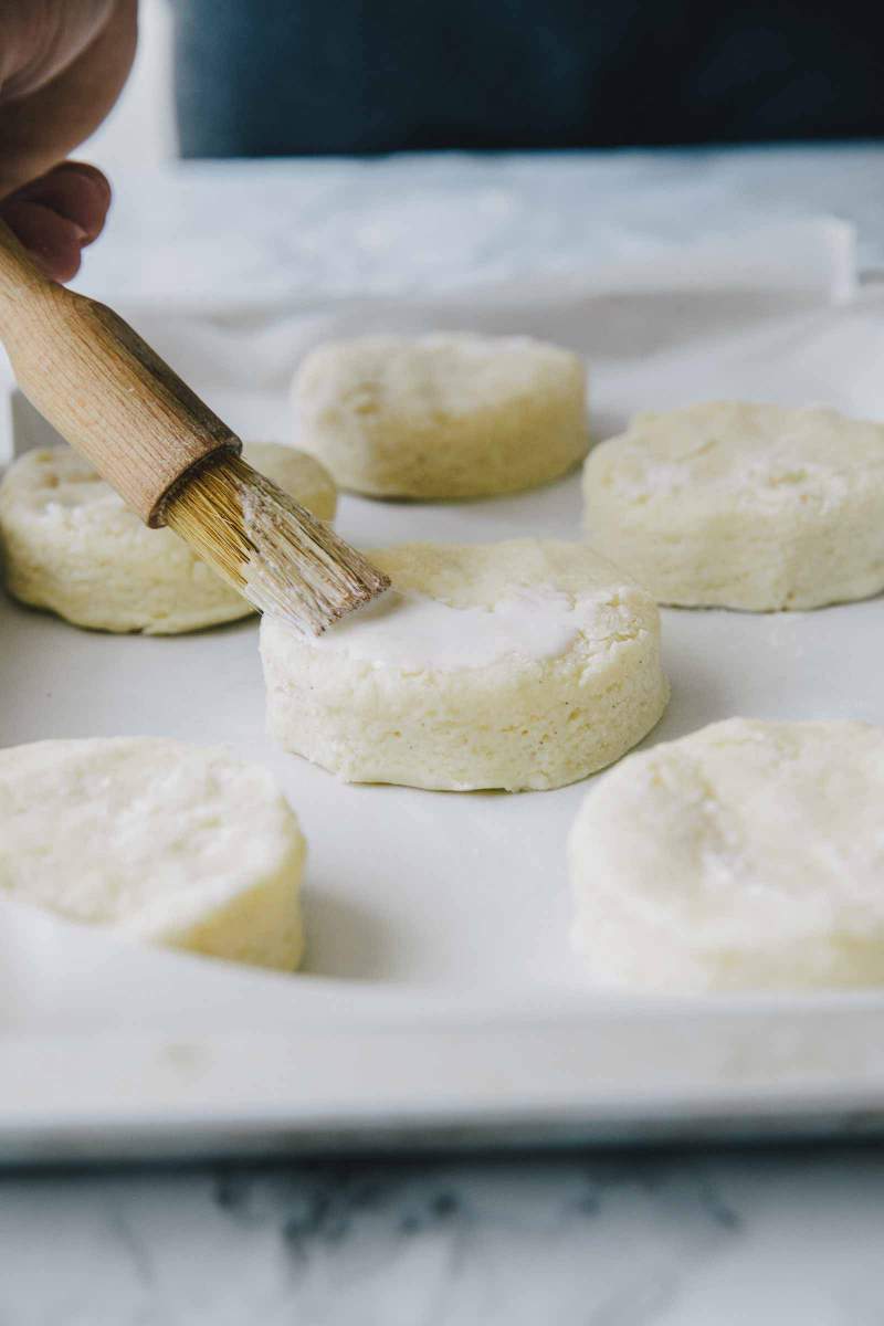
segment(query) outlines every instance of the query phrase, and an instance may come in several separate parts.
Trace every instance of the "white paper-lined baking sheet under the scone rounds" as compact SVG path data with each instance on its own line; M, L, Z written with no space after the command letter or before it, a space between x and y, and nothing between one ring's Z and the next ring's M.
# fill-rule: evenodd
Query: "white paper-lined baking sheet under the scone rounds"
M596 436L636 408L722 395L884 418L884 296L854 293L838 223L531 289L133 320L247 438L289 435L285 387L307 345L370 328L570 345L591 363ZM15 414L17 447L42 440L27 404ZM465 504L347 497L339 528L366 544L579 537L579 481ZM338 784L264 736L253 621L117 638L4 599L0 642L3 745L227 741L273 768L310 842L309 951L292 977L0 899L0 1155L877 1126L884 993L668 1001L587 987L563 846L595 780L521 796ZM664 642L673 697L649 743L736 713L884 723L880 599L665 611Z

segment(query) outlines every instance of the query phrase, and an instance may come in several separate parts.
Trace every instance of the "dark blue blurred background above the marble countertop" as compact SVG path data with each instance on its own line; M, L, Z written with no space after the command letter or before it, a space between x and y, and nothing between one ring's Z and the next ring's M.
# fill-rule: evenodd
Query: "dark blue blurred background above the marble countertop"
M176 0L184 155L884 133L884 4Z

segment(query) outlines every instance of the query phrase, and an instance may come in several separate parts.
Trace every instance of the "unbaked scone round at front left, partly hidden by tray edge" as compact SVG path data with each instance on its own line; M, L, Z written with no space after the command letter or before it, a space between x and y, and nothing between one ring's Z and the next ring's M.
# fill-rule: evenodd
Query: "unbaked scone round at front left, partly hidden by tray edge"
M292 969L305 843L270 774L152 737L0 751L0 890L147 943Z

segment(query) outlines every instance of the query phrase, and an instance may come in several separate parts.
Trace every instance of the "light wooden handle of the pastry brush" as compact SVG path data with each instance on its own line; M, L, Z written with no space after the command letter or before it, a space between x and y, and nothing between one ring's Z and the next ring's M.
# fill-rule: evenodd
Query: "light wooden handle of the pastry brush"
M50 281L0 221L0 341L19 386L147 525L240 440L122 318Z

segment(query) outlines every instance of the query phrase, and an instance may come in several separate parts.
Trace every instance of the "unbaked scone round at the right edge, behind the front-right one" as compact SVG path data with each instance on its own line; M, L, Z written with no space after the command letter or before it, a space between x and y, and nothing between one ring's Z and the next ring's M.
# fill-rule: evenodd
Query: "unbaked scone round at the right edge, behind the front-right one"
M592 545L660 603L820 607L884 589L884 424L718 402L637 415L583 477Z

